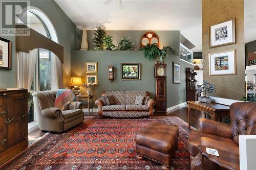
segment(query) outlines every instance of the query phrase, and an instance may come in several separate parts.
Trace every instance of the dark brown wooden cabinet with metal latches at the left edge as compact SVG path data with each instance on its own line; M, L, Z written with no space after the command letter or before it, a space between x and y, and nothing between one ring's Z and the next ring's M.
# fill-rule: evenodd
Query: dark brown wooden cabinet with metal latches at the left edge
M0 165L28 148L27 100L27 90L0 90Z

